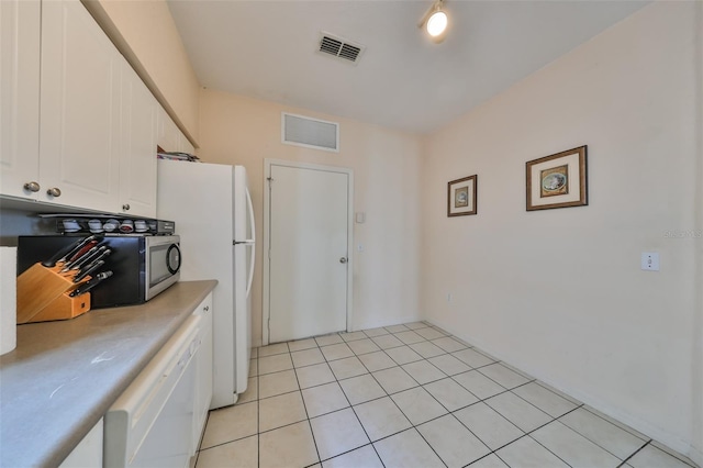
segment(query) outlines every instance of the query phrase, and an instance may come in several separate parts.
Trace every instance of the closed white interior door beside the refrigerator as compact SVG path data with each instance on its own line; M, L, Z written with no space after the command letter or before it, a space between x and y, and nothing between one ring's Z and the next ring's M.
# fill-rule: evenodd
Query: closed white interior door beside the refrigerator
M269 342L347 327L350 174L271 165Z

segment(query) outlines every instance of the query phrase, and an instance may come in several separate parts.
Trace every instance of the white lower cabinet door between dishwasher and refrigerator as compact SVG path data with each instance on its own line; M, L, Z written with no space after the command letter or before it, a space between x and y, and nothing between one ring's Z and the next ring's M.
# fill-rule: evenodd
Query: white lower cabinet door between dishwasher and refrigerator
M202 320L200 349L198 350L198 378L196 379L196 410L193 412L193 443L194 449L199 449L200 436L205 428L208 410L212 400L212 372L213 372L213 342L212 342L212 292L196 309L193 314L200 314Z

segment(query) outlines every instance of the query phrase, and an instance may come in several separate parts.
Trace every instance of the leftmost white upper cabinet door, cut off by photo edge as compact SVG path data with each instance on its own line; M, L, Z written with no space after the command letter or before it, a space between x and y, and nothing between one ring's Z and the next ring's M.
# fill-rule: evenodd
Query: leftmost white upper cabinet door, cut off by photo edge
M0 193L37 198L40 132L38 0L0 1Z

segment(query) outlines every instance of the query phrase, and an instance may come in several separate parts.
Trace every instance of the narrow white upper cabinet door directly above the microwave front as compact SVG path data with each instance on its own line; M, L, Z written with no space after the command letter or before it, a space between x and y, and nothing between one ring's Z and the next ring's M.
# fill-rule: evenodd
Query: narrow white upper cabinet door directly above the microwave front
M146 85L124 62L122 80L120 209L124 214L156 218L156 110Z

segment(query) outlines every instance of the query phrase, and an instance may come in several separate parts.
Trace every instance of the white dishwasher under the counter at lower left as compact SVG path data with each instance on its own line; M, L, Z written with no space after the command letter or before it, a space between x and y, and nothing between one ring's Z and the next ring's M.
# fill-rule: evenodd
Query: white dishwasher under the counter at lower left
M105 413L104 467L189 465L200 324L191 315Z

